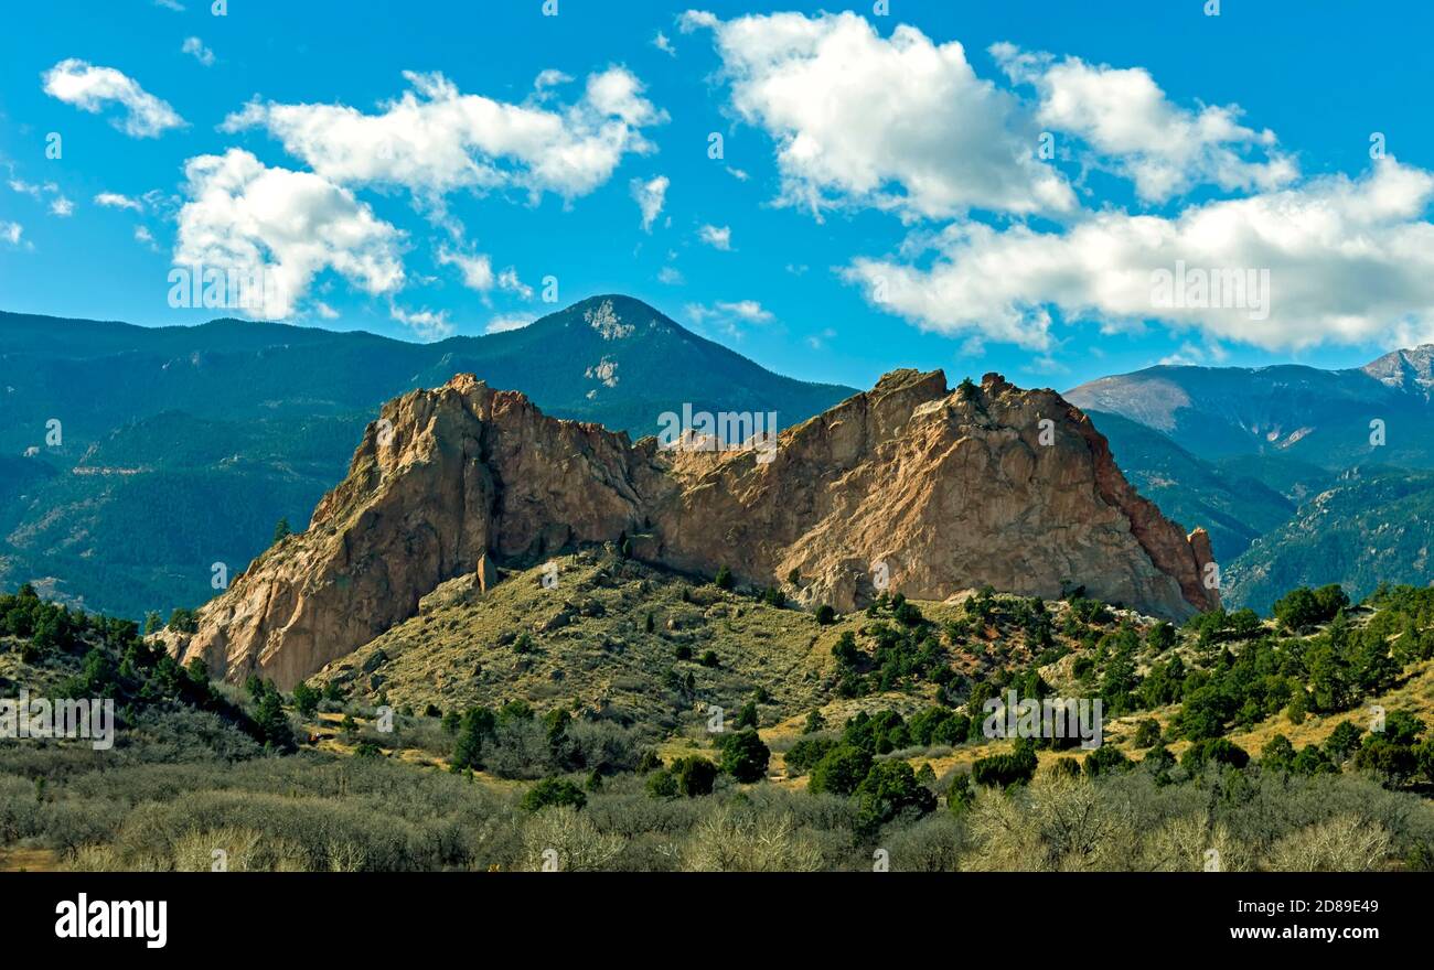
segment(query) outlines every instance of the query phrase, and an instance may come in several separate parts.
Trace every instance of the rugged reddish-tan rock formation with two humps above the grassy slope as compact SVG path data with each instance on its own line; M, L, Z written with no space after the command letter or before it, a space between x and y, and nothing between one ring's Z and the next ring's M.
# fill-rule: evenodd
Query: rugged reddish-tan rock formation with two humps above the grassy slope
M390 401L308 530L257 559L169 638L188 662L290 688L486 556L539 559L627 532L641 559L774 585L849 610L878 587L944 599L989 583L1063 583L1182 618L1206 589L1203 530L1186 534L1131 489L1106 440L1054 391L997 374L948 391L896 371L783 431L776 454L663 450L545 417L460 374Z

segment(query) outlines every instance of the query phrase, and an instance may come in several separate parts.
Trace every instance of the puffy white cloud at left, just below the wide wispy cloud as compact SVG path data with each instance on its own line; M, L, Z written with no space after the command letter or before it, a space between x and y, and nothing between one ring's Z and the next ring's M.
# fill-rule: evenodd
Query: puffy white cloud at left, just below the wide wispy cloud
M185 163L175 262L262 269L268 305L255 317L287 317L314 277L333 269L369 294L404 282L402 232L353 193L313 172L268 168L242 149Z

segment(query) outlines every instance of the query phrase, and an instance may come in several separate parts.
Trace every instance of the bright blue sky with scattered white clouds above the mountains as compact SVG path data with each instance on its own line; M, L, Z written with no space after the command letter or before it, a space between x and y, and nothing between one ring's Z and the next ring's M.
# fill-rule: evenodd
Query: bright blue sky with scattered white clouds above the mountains
M26 4L0 308L201 322L194 256L406 340L625 292L852 385L1434 340L1427 4L1205 6ZM1156 307L1177 259L1268 269L1268 312Z

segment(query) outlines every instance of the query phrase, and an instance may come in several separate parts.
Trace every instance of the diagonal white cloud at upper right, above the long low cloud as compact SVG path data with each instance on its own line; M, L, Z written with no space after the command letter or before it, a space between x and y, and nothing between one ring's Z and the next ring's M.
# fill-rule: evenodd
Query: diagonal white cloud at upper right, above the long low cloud
M1057 60L1005 43L994 44L991 54L1011 80L1035 87L1035 120L1043 128L1083 139L1131 179L1144 201L1163 202L1199 185L1268 192L1299 175L1295 162L1275 148L1273 132L1239 123L1238 105L1186 110L1143 67ZM1248 159L1250 149L1263 160Z

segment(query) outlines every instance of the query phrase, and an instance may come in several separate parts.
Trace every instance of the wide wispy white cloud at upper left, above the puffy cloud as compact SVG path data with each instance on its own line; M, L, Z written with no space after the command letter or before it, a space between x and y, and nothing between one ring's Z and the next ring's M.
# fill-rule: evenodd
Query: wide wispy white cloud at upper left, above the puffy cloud
M264 128L331 182L400 185L436 203L456 189L587 195L624 155L651 152L641 129L667 120L624 67L589 75L582 97L558 109L465 95L439 73L404 77L412 90L374 115L347 105L251 102L222 129Z

